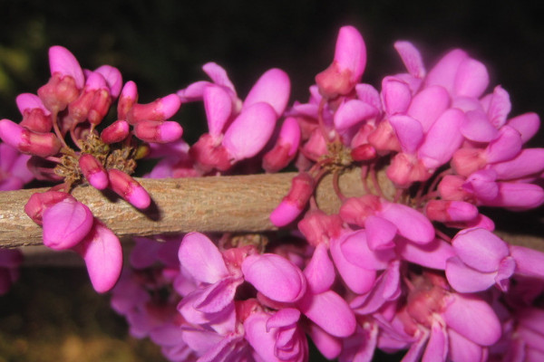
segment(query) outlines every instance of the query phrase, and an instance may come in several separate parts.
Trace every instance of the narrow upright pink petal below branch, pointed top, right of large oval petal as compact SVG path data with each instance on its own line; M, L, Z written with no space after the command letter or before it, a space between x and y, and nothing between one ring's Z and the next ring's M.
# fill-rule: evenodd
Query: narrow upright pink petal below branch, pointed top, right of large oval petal
M335 266L328 256L325 243L317 244L312 259L304 269L304 275L308 287L314 294L329 290L335 282Z

